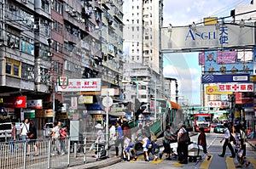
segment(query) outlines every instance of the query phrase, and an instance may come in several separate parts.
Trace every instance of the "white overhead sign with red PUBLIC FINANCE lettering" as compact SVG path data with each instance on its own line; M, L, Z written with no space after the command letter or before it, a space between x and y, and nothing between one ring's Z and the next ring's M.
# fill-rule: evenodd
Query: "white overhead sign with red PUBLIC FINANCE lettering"
M57 92L101 91L102 81L95 79L69 79L67 86L57 86Z

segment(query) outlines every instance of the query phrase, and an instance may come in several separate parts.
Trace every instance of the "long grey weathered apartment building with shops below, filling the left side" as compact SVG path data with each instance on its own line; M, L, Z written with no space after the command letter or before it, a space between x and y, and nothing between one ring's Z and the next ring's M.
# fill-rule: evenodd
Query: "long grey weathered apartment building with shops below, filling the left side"
M102 114L100 93L60 92L58 77L101 79L102 87L115 88L113 98L119 99L122 7L121 0L2 0L1 111L15 121L34 118L38 124L73 119L70 111L75 119L84 110ZM71 109L72 98L83 96L92 102Z

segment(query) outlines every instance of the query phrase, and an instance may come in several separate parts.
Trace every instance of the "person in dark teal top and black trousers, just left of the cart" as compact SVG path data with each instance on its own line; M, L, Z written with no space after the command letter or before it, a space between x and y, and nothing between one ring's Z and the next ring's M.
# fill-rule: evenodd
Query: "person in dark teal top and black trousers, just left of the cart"
M166 131L164 132L164 139L163 139L163 145L164 150L160 153L160 160L162 159L162 156L166 153L166 160L171 160L171 147L170 144L174 138L172 137L172 134L170 132L171 127L166 126Z

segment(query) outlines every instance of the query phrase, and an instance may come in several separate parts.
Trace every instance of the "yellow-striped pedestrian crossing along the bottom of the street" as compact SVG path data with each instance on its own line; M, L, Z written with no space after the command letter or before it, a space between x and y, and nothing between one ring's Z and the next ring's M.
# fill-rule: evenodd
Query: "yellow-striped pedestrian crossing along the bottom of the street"
M247 168L249 168L249 169L255 168L256 169L256 159L255 158L256 158L256 156L255 156L254 152L253 152L253 154L247 155L248 161L251 162L250 166L248 166ZM215 160L213 161L213 159L215 159ZM193 164L193 165L198 164L199 169L209 169L209 168L214 168L214 163L216 161L221 162L220 160L224 161L224 164L226 165L226 167L224 167L224 168L227 168L227 169L236 168L236 165L237 165L236 158L230 158L230 156L228 156L228 155L225 156L224 158L220 158L220 157L218 157L218 155L212 155L212 158L209 161L207 161L207 157L205 157L201 161L189 162L188 164L180 164L176 159L174 159L173 161L170 161L170 165L176 166L176 167L185 167L186 165L190 166L191 164ZM139 155L139 156L137 156L137 161L131 160L130 162L140 162L140 161L144 161L144 155ZM167 161L166 157L164 157L164 156L161 160L158 159L157 161L149 161L149 164L157 165L157 164L162 163L163 161ZM245 167L245 165L244 165L244 167Z

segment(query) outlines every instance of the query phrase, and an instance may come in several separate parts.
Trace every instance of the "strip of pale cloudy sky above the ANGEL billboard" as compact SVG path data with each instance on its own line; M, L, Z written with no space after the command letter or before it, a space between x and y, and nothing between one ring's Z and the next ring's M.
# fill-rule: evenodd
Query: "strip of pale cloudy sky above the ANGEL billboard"
M190 25L193 21L199 23L203 18L211 16L230 16L230 10L237 5L249 3L248 0L165 0L164 26Z

